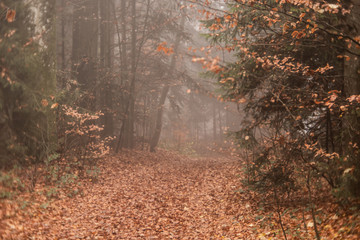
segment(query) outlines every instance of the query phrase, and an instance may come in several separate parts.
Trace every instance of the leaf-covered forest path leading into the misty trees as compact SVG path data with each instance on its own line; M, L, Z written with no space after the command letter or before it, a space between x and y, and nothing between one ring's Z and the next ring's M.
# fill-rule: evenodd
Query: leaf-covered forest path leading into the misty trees
M248 204L233 199L239 198L236 160L129 151L101 161L100 168L96 183L84 182L82 195L51 204L49 212L25 223L23 234L32 239L251 239L247 225L254 215ZM239 208L240 218L234 215Z

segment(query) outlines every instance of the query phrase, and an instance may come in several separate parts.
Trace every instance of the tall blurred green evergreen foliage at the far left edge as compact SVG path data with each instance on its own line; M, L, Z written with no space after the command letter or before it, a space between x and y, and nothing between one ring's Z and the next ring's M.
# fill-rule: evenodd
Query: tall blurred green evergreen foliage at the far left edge
M6 18L3 14L6 13ZM42 162L52 151L53 115L42 100L55 83L34 13L23 1L0 5L0 166ZM46 28L45 28L46 29ZM47 57L46 57L47 56Z

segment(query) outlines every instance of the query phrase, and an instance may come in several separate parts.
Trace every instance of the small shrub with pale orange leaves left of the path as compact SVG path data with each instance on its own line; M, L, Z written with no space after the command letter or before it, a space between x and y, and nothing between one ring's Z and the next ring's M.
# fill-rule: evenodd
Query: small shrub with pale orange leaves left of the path
M91 114L85 110L80 113L79 108L59 106L58 128L59 153L52 154L45 161L45 183L49 190L45 191L48 198L59 197L61 192L74 196L81 192L79 178L88 178L96 181L99 169L97 160L109 153L108 141L111 138L101 139L103 128L96 124L101 113Z

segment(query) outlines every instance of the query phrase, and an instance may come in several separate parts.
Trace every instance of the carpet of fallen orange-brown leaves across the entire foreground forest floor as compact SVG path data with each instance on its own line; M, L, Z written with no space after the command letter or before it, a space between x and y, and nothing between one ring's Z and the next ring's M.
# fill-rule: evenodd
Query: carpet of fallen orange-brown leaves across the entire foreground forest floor
M19 203L2 203L0 238L282 239L276 213L270 211L272 220L266 220L261 215L269 212L257 207L259 196L237 191L241 171L236 159L124 151L103 159L99 167L98 180L82 180L83 192L73 198L47 203L44 195L33 193L22 196L32 201L23 209ZM288 239L314 239L309 213L306 228L301 211L293 215L284 214L283 221L288 229L300 226L299 237L289 234ZM328 236L324 239L357 239L342 227L345 215L328 216L321 227L322 236Z

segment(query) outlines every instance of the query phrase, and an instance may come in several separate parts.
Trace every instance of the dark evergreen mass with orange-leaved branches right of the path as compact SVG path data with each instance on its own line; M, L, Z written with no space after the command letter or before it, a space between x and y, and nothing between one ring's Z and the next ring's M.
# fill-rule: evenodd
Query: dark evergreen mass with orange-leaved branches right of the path
M236 58L225 66L200 61L218 76L225 99L245 103L248 117L234 136L251 152L248 184L258 191L295 190L314 171L339 196L359 196L358 95L350 106L346 89L359 41L341 25L355 26L356 11L340 3L231 1L204 22L208 38Z

